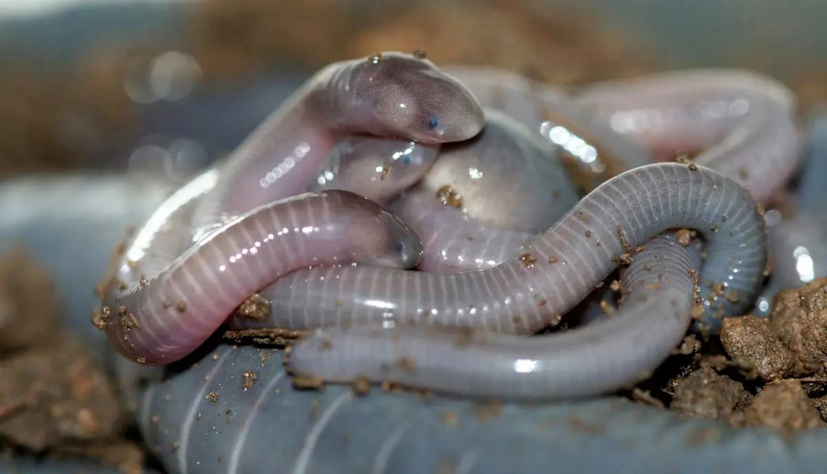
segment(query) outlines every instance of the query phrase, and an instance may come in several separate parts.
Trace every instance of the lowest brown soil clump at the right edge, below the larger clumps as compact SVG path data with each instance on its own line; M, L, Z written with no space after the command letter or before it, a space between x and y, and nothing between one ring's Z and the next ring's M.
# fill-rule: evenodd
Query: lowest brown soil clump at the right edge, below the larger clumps
M810 402L800 381L774 381L743 410L745 426L769 426L793 431L816 429L825 425L819 411Z

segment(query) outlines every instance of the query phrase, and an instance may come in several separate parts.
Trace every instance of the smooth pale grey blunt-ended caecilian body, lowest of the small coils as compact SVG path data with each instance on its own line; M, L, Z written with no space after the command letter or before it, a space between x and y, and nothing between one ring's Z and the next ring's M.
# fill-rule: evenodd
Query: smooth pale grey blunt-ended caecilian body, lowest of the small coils
M318 329L289 352L289 371L323 381L390 381L497 400L579 399L633 385L681 341L700 248L649 241L624 275L625 304L600 323L521 338L397 327Z

